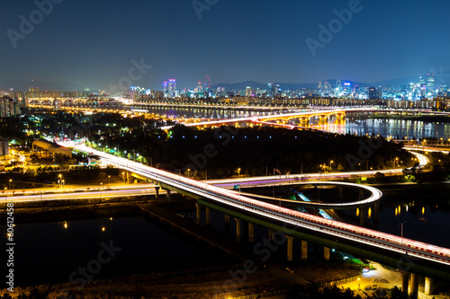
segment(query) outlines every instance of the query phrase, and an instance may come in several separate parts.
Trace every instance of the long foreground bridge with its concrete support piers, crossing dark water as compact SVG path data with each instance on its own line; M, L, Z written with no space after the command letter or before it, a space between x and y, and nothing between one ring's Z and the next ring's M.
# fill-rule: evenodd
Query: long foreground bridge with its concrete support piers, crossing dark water
M170 196L172 190L196 199L197 212L200 207L207 209L207 222L211 222L211 209L223 212L225 219L227 215L228 219L230 215L234 216L237 223L237 240L240 240L241 220L248 222L251 232L254 224L267 227L269 232L284 232L288 241L288 259L292 259L293 238L298 238L304 242L323 245L325 258L329 258L329 248L334 248L411 272L412 290L417 289L417 275L426 276L428 286L432 282L430 277L450 281L450 249L279 207L228 189L105 154L85 145L76 145L76 149L96 154L105 163L133 171L157 182L161 188L166 189L167 196ZM302 256L303 253L307 254L306 252L303 252L302 246ZM408 283L408 277L405 277L403 282L406 280Z

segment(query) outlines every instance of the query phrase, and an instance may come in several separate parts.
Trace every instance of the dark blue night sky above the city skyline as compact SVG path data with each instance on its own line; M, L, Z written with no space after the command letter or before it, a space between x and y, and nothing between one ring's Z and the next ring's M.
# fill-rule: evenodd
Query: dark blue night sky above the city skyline
M132 83L152 89L169 78L193 88L205 75L211 84L374 83L450 69L448 0L361 0L315 57L306 40L320 41L319 25L328 28L334 10L357 1L198 0L213 4L200 14L192 0L52 1L59 4L41 22L33 1L2 2L0 85L36 79L108 88L141 58L152 67ZM20 16L30 14L38 22L23 34ZM13 42L13 31L22 39Z

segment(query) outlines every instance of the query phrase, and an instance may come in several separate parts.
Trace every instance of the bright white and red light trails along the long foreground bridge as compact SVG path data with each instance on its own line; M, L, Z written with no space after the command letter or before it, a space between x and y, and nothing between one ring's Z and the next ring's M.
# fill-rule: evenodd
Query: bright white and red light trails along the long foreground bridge
M377 232L356 225L325 219L316 215L305 214L286 207L278 207L257 199L234 194L227 189L211 186L201 181L161 171L111 154L105 154L85 145L77 145L76 148L86 153L96 154L107 163L134 171L151 180L172 186L175 189L183 189L185 192L208 198L252 215L260 215L266 219L293 225L293 227L307 228L317 233L328 234L331 237L351 240L364 246L370 245L374 248L383 248L385 251L400 254L407 253L418 256L419 259L429 259L439 264L450 266L450 249L401 238L390 233Z

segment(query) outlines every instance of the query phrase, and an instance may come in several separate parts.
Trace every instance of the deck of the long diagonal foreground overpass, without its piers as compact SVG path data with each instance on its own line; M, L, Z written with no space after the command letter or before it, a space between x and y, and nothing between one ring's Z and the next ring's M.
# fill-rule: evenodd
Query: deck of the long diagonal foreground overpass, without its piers
M161 186L184 193L202 202L211 202L213 206L227 207L238 211L240 215L250 215L265 222L281 224L279 226L296 228L311 233L320 233L321 238L336 240L336 243L351 243L355 248L369 248L366 253L383 252L381 259L386 254L393 257L390 263L405 256L414 259L410 266L411 271L430 277L438 277L450 281L450 249L436 245L401 238L389 233L381 233L352 224L340 223L334 220L324 219L315 215L309 215L294 211L285 207L278 207L256 199L247 198L230 192L227 189L211 186L209 184L175 175L167 171L161 171L140 163L130 162L124 158L96 151L85 145L77 145L76 149L86 153L99 155L106 163L134 171L150 180L156 181ZM377 256L380 256L379 254ZM376 259L375 259L376 260ZM382 260L383 262L383 260ZM395 266L394 266L395 267Z

